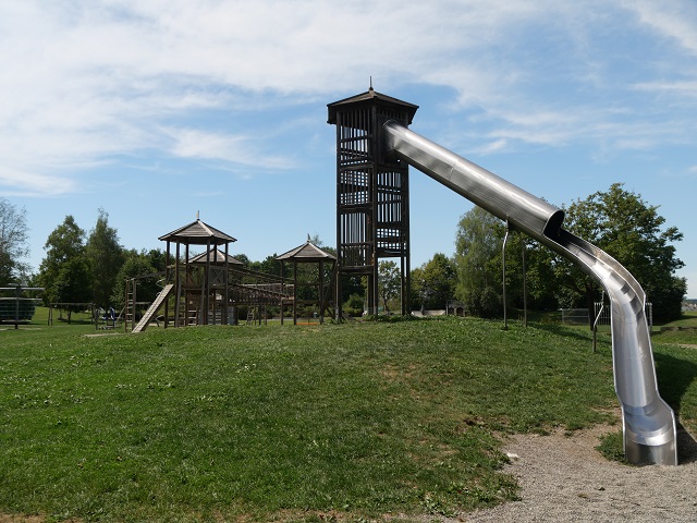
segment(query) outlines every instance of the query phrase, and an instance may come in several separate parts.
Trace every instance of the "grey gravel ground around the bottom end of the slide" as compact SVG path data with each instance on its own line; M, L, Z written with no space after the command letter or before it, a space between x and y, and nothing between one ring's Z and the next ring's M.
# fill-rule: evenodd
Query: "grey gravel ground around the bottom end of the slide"
M463 514L466 522L697 522L697 443L678 433L678 466L627 466L595 447L616 427L572 437L516 435L504 450L505 472L522 487L521 501Z

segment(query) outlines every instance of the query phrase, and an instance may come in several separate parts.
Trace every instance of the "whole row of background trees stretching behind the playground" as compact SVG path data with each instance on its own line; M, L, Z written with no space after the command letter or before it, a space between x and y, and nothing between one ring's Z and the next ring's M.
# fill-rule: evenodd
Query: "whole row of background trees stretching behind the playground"
M687 283L675 273L684 264L675 255L674 243L683 235L677 228L665 226L657 206L615 183L608 191L572 202L564 210L564 227L570 232L606 251L639 281L653 305L657 320L681 316ZM24 210L0 198L0 285L23 280L32 287L44 287L47 304L95 303L105 308L120 308L125 301L126 278L164 271L164 252L124 248L103 209L98 209L97 222L89 232L81 229L72 216L66 216L49 234L37 273L30 273L22 262L27 255L26 231ZM530 309L592 309L594 302L602 295L588 276L533 239L511 232L505 259L506 306L522 308L526 300ZM505 234L505 223L479 207L463 215L455 235L455 254L449 257L436 253L412 270L408 296L412 309L443 309L455 299L462 302L467 314L501 316ZM321 246L317 236L313 242ZM322 248L335 254L330 247ZM253 262L244 254L234 257L252 270L280 275L276 254L261 262ZM396 264L381 260L379 293L386 309L400 297L399 280ZM138 300L152 301L159 289L155 276L143 280L138 285ZM342 292L344 311L362 314L365 283L360 278L343 281Z

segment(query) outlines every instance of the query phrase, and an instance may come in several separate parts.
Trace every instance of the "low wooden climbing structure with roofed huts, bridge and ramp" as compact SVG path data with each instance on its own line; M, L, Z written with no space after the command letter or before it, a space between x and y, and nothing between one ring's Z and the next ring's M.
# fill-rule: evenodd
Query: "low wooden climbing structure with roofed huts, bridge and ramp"
M229 254L229 244L236 240L199 219L159 239L167 242L167 270L125 281L123 323L126 332L140 332L152 321L164 328L237 325L241 309L247 313L247 324L261 324L271 306L279 307L281 324L291 308L296 325L299 307L307 306L317 308L317 320L321 323L333 304L335 258L309 240L277 258L281 264L281 276L274 276L245 268ZM191 245L205 245L206 250L192 256ZM292 278L285 277L289 263ZM315 270L298 269L310 264ZM315 280L303 278L307 273L315 275ZM150 303L138 301L137 295L138 281L147 278L157 278L161 287ZM145 305L147 309L143 313Z

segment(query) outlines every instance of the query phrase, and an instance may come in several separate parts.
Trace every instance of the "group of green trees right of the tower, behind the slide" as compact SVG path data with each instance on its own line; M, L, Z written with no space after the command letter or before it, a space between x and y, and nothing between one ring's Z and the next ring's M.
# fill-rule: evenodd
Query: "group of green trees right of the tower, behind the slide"
M564 228L617 259L644 288L657 320L681 317L687 282L676 276L684 263L676 257L673 244L683 234L675 227L665 227L657 206L615 183L563 208ZM602 300L600 287L576 264L525 234L510 232L506 306L522 308L526 300L528 308L538 311L592 311L594 303ZM505 223L484 209L474 207L466 212L457 226L454 257L436 255L413 271L412 305L444 308L442 296L450 293L472 315L501 316L505 233ZM415 272L419 277L414 278ZM455 277L450 276L453 272ZM445 281L451 287L441 291Z

